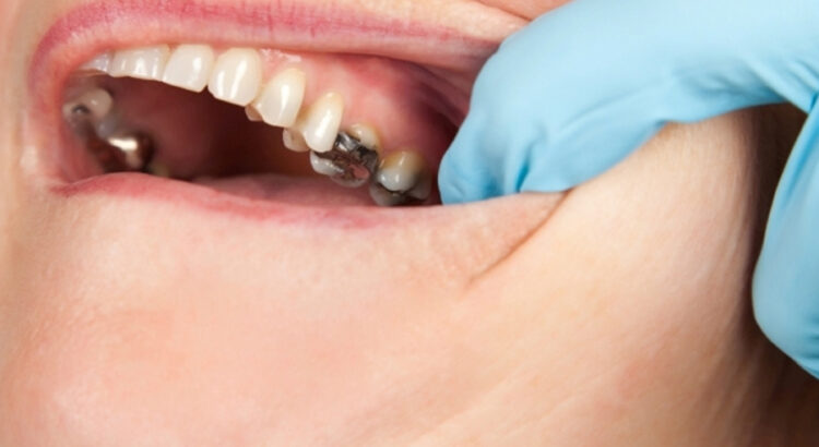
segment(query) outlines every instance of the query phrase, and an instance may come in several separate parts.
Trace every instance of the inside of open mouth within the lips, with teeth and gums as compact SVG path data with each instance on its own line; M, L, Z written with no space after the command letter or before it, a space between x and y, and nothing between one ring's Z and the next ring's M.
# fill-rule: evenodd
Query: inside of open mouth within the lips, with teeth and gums
M252 198L438 204L460 117L423 68L206 45L107 51L64 89L71 181L142 172ZM207 90L207 92L205 92Z

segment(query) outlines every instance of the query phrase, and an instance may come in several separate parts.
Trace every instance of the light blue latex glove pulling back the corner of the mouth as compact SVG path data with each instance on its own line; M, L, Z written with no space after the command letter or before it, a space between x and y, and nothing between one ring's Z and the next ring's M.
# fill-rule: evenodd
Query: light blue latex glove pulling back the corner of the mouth
M665 123L790 101L809 113L753 279L767 336L819 377L819 0L574 0L486 64L443 202L570 189Z

